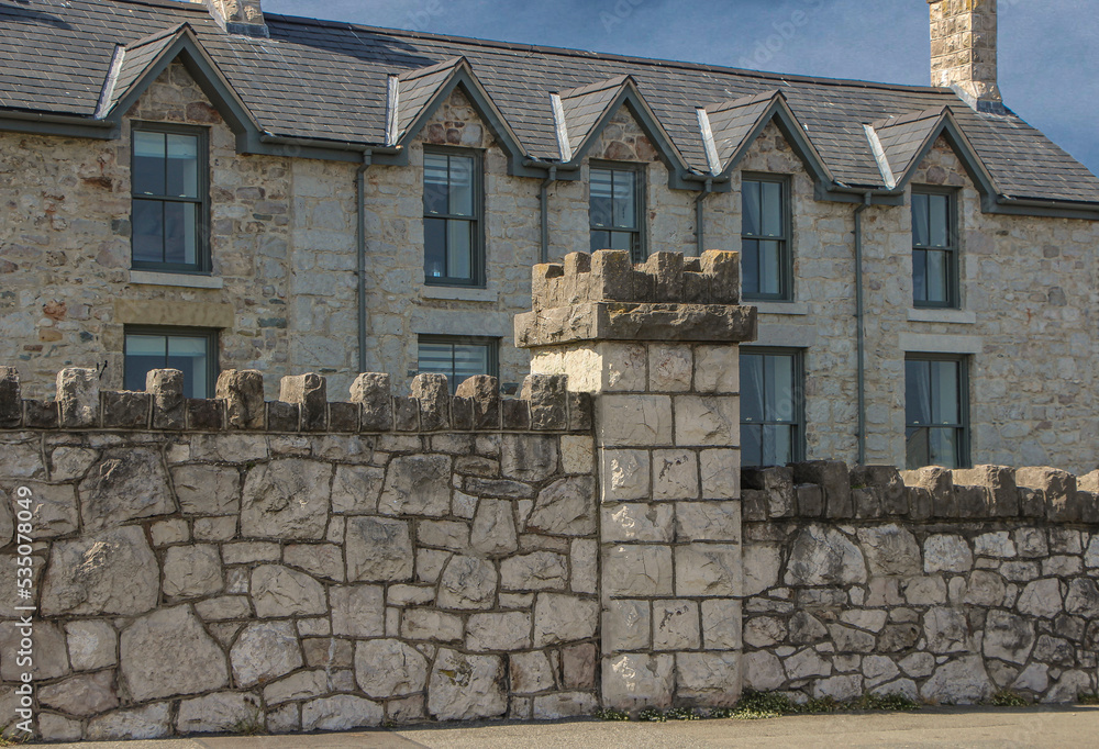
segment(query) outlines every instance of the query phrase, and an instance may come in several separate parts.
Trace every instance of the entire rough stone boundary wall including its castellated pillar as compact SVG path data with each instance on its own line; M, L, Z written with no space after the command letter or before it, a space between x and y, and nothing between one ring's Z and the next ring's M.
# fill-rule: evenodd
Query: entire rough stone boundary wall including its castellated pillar
M45 739L1096 689L1099 480L813 462L743 479L739 259L574 254L517 320L533 373L221 373L185 399L0 368L0 714L34 496ZM742 481L745 487L742 492ZM742 500L743 494L743 500ZM743 525L742 525L743 503ZM742 530L743 528L743 530ZM8 729L9 733L11 728Z

